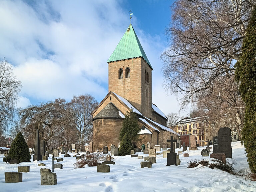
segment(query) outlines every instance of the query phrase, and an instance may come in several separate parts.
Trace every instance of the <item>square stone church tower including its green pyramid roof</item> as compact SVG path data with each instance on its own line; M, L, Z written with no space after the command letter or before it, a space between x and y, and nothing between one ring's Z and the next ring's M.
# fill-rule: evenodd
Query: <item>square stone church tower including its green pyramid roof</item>
M132 24L107 62L108 91L122 96L151 119L153 68Z

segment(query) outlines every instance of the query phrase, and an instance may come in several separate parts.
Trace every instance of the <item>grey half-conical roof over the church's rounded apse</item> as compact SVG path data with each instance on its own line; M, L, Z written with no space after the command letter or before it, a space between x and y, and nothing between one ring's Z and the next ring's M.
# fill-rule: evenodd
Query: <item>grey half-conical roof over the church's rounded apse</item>
M109 103L94 118L124 118L124 115L113 103Z

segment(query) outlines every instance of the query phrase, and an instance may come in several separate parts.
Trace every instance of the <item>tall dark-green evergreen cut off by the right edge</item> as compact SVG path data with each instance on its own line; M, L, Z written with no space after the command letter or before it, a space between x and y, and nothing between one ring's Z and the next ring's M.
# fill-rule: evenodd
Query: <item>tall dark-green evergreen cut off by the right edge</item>
M245 118L242 141L247 153L247 161L252 172L256 173L256 9L252 11L242 53L236 67L236 80L245 102Z

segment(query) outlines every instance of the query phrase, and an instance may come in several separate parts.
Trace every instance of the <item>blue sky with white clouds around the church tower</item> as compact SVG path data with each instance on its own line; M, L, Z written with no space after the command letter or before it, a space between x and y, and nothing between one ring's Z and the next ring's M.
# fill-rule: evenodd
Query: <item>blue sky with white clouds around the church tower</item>
M0 1L0 58L22 82L18 107L73 95L108 93L107 60L130 24L153 67L152 102L178 112L164 90L160 60L172 0ZM182 111L181 115L186 115Z

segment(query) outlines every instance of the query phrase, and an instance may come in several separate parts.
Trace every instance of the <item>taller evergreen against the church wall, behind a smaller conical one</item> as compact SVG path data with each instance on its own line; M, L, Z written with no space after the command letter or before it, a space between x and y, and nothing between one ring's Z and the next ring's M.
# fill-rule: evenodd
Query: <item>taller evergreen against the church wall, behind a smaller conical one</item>
M127 133L129 140L132 142L136 142L139 139L139 131L140 128L136 113L134 113L132 110L130 110L130 112L126 112L119 135L119 140L121 141L125 133Z

